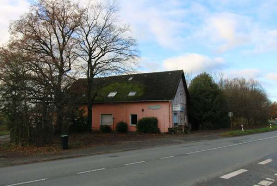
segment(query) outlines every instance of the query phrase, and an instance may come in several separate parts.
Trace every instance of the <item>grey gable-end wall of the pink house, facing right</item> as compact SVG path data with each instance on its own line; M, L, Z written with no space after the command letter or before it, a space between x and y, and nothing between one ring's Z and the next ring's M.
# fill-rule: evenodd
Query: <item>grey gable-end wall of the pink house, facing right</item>
M174 105L181 105L181 108L184 108L183 111L173 111L172 121L174 125L174 113L177 114L178 125L184 125L185 122L188 124L188 117L187 117L187 98L186 98L186 91L183 84L183 80L180 80L178 85L175 98L173 100Z

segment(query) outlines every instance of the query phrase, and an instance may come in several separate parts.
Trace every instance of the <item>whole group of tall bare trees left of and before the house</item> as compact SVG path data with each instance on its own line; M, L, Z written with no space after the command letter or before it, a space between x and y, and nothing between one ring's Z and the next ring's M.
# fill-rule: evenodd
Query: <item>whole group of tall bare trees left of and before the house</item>
M10 41L0 48L0 109L11 142L41 146L54 133L67 134L81 112L78 92L70 91L81 76L91 126L93 78L136 65L136 41L117 13L115 4L39 0L11 23Z

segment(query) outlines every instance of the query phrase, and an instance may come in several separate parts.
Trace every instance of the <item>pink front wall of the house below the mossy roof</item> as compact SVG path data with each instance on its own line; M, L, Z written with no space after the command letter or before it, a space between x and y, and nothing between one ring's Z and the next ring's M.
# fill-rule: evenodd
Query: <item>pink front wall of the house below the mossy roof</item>
M154 116L158 118L161 132L167 132L168 128L172 127L171 108L171 102L95 104L92 112L92 127L95 130L99 130L100 125L110 125L114 128L116 123L124 121L128 124L128 131L135 131L138 120Z

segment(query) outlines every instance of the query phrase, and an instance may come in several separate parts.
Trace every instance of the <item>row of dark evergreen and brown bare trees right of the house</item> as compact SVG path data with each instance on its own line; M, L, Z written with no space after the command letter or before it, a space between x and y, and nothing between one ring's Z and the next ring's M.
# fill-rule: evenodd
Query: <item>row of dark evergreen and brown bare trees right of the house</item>
M216 82L206 72L194 77L189 85L189 115L192 128L220 129L230 127L228 112L234 114L233 125L265 125L276 116L265 90L253 79L224 78ZM275 110L274 110L274 109Z

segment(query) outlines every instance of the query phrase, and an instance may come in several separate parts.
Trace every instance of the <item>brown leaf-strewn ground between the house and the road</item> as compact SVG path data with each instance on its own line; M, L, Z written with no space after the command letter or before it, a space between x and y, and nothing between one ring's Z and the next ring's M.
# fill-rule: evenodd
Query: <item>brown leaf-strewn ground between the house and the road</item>
M68 146L70 149L82 149L101 145L115 145L132 141L148 141L158 138L171 137L167 134L137 134L137 133L75 133L68 135ZM62 152L60 148L60 136L55 136L51 144L43 147L18 146L14 144L3 144L0 151L11 153L11 155L39 155Z

